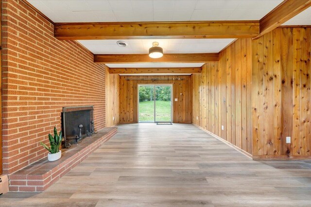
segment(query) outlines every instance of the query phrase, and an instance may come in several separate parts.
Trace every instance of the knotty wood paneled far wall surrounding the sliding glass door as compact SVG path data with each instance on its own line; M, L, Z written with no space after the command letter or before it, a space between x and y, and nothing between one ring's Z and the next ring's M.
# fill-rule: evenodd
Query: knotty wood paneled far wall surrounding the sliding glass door
M175 80L144 80L173 78ZM161 83L173 84L173 123L191 123L190 76L120 76L120 123L138 122L138 84Z

